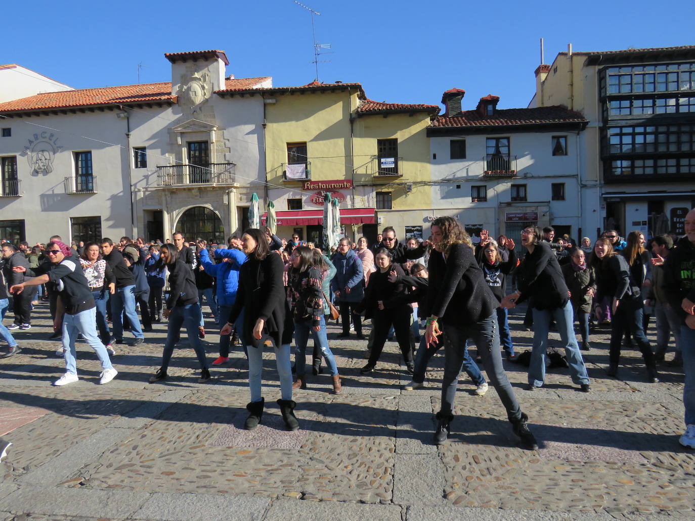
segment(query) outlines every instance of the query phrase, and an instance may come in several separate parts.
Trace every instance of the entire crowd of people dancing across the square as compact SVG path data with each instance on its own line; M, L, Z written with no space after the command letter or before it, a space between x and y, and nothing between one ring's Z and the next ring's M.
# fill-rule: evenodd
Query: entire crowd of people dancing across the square
M518 361L508 310L526 301L524 324L533 331L528 390L543 386L553 328L570 378L582 392L591 392L582 351L592 349L592 329L610 327L609 376L618 377L621 347L635 342L652 383L659 382L657 363L664 363L672 335L675 349L669 363L682 365L685 372L686 431L680 443L695 448L695 210L686 217L685 235L676 240L659 235L646 242L640 231L622 240L617 231L607 230L593 245L586 237L577 244L566 236L555 239L550 226L528 226L518 244L517 249L512 238L500 235L494 240L482 231L474 245L452 217L434 220L424 241L402 242L389 226L373 245L364 237L357 242L342 238L333 251L302 242L297 234L281 240L268 229L247 229L227 245L186 242L181 232L163 244L123 237L119 242L102 238L68 246L57 235L35 247L4 242L0 313L5 316L11 299L15 318L9 326L0 325L0 336L9 346L1 357L22 351L11 330L30 329L33 306L47 299L52 337L61 340L56 354L65 357L65 374L55 386L78 380L79 338L97 354L99 383L104 384L117 376L111 357L117 345L126 342L125 333L133 336L132 345L140 345L162 320L167 320L167 338L161 366L150 383L167 379L182 327L199 361L199 383L204 383L211 379L202 343L206 301L219 334L219 356L212 365L228 363L230 349L237 345L247 358L250 402L245 428L262 422L262 354L272 349L280 383L277 403L286 428L295 430L300 424L293 391L306 389L309 338L313 374L322 372L325 361L333 392L343 390L327 336L327 323L336 320L342 329L337 338L350 338L354 332L366 341L368 361L361 374L377 369L386 341L395 337L405 370L412 375L404 390L424 385L427 363L443 346L435 444L449 436L459 375L465 370L475 394L484 395L489 384L496 388L521 445L535 449L528 415L502 363L502 353ZM516 289L511 294L509 286ZM646 337L651 315L657 329L655 349ZM372 324L368 336L363 320ZM469 345L477 348L475 358Z

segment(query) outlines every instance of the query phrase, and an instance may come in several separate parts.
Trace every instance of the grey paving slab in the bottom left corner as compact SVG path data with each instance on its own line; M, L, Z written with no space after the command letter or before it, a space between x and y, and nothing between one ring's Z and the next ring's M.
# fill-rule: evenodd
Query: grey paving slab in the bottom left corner
M149 494L122 490L22 486L0 499L0 511L125 519L147 502Z

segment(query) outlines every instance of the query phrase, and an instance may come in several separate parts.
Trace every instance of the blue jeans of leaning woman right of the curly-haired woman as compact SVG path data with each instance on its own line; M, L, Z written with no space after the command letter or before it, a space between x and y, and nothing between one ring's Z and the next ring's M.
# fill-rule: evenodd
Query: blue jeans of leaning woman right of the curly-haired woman
M565 356L569 365L572 381L578 386L589 383L587 368L579 351L577 338L574 336L574 317L572 304L568 301L564 308L533 308L533 350L531 364L528 367L528 383L540 387L546 379L546 351L548 350L548 329L550 320L555 320L557 332L565 347Z

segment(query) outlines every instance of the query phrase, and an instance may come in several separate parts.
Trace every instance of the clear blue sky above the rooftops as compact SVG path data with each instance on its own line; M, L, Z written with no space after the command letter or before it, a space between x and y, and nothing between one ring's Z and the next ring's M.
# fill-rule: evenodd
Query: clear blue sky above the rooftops
M466 90L525 107L535 88L539 38L546 63L575 51L695 44L687 2L644 0L470 2L306 0L321 13L316 38L332 45L321 81L362 83L368 97L439 104ZM75 88L170 81L165 52L222 49L228 74L303 85L316 75L311 15L293 0L6 2L0 63L18 63Z

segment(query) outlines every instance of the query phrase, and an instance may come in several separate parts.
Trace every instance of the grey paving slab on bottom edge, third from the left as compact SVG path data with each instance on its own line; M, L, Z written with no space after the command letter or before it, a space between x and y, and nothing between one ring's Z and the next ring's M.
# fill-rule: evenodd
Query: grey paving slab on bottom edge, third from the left
M395 505L277 499L263 521L401 521L401 512L401 507Z

